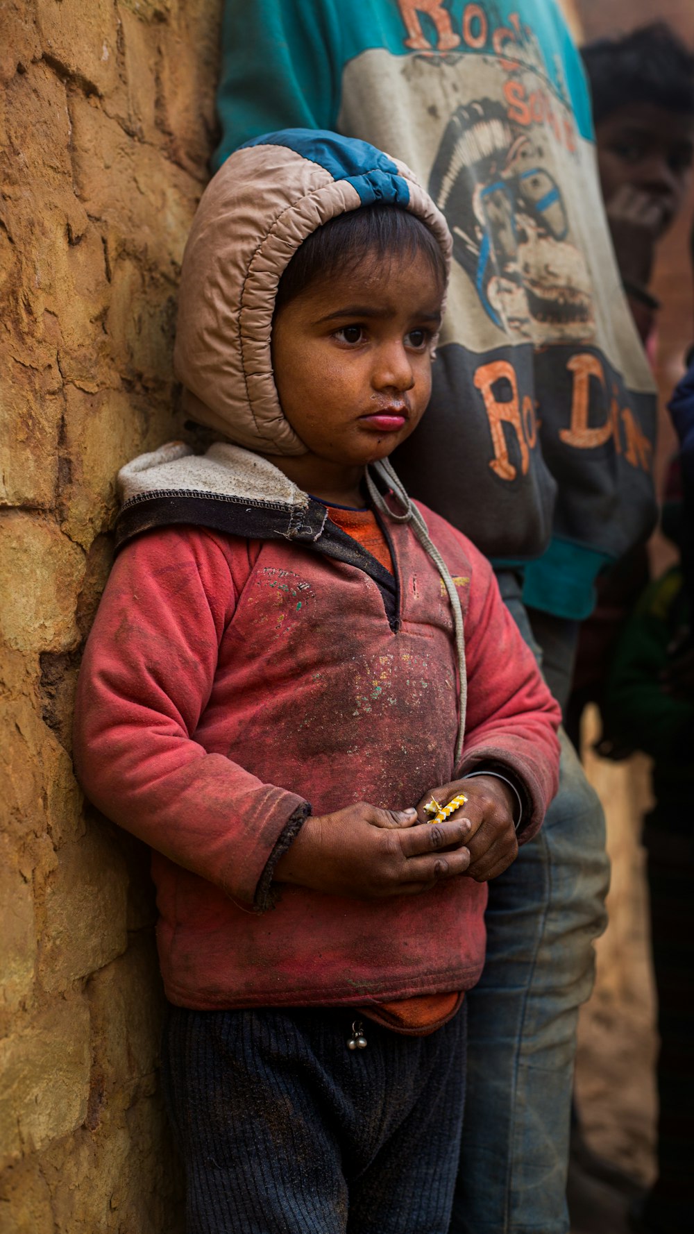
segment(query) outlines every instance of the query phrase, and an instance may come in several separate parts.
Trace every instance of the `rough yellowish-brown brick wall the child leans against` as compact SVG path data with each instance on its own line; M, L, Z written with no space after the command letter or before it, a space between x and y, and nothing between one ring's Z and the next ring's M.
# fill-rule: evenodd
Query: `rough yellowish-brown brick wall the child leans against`
M115 473L180 429L175 292L219 7L0 2L5 1234L180 1229L147 858L85 807L70 705Z

